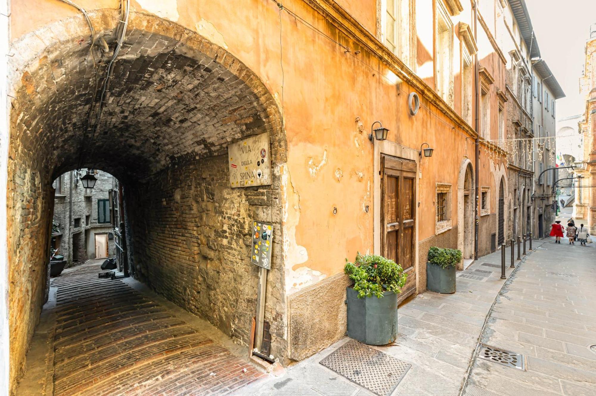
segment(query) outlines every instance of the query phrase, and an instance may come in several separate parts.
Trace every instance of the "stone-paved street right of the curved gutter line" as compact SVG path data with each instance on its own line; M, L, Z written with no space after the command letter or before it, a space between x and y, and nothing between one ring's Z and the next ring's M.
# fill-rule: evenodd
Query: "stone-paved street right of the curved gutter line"
M596 395L596 244L536 245L481 340L523 354L525 370L476 358L464 395Z

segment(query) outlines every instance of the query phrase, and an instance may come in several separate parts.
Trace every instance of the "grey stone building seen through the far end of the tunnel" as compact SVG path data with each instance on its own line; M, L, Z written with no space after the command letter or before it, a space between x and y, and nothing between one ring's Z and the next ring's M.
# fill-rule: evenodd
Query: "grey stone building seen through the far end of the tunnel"
M99 172L94 188L83 188L83 172L66 172L56 180L54 224L51 248L67 260L67 267L88 259L114 256L114 235L110 222L109 191L113 177ZM52 250L53 251L53 250Z

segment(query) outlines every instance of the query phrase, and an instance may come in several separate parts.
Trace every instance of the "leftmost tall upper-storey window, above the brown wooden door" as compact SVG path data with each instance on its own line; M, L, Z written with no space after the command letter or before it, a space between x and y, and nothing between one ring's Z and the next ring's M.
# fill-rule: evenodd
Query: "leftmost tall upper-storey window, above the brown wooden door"
M381 0L383 42L403 63L411 66L410 10L412 0Z

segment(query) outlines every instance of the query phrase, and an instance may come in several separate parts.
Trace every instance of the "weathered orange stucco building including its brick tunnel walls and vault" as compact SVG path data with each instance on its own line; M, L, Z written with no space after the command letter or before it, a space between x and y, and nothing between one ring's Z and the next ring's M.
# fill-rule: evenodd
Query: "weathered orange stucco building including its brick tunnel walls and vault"
M101 79L119 2L80 5L95 29ZM467 259L494 250L499 227L511 227L507 156L491 143L510 112L500 39L507 4L417 0L407 9L408 39L392 51L374 2L132 1L85 147L94 155L80 163L95 73L88 23L57 0L13 1L10 39L20 56L9 60L7 243L20 284L9 299L11 384L45 299L51 183L79 166L125 186L135 276L243 345L256 308L250 224L274 224L265 320L271 353L283 361L344 335L345 259L385 254L381 158L415 174L403 297L426 289L430 246L462 249ZM387 140L369 140L375 121L389 128ZM228 145L263 132L272 184L229 187ZM419 154L423 143L432 157Z

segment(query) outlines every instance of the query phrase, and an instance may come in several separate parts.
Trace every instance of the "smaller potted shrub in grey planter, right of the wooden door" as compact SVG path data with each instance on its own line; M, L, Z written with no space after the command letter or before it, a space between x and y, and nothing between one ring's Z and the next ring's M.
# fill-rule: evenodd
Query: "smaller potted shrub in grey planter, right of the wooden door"
M426 263L426 288L431 292L455 293L455 265L460 261L461 250L432 246Z

